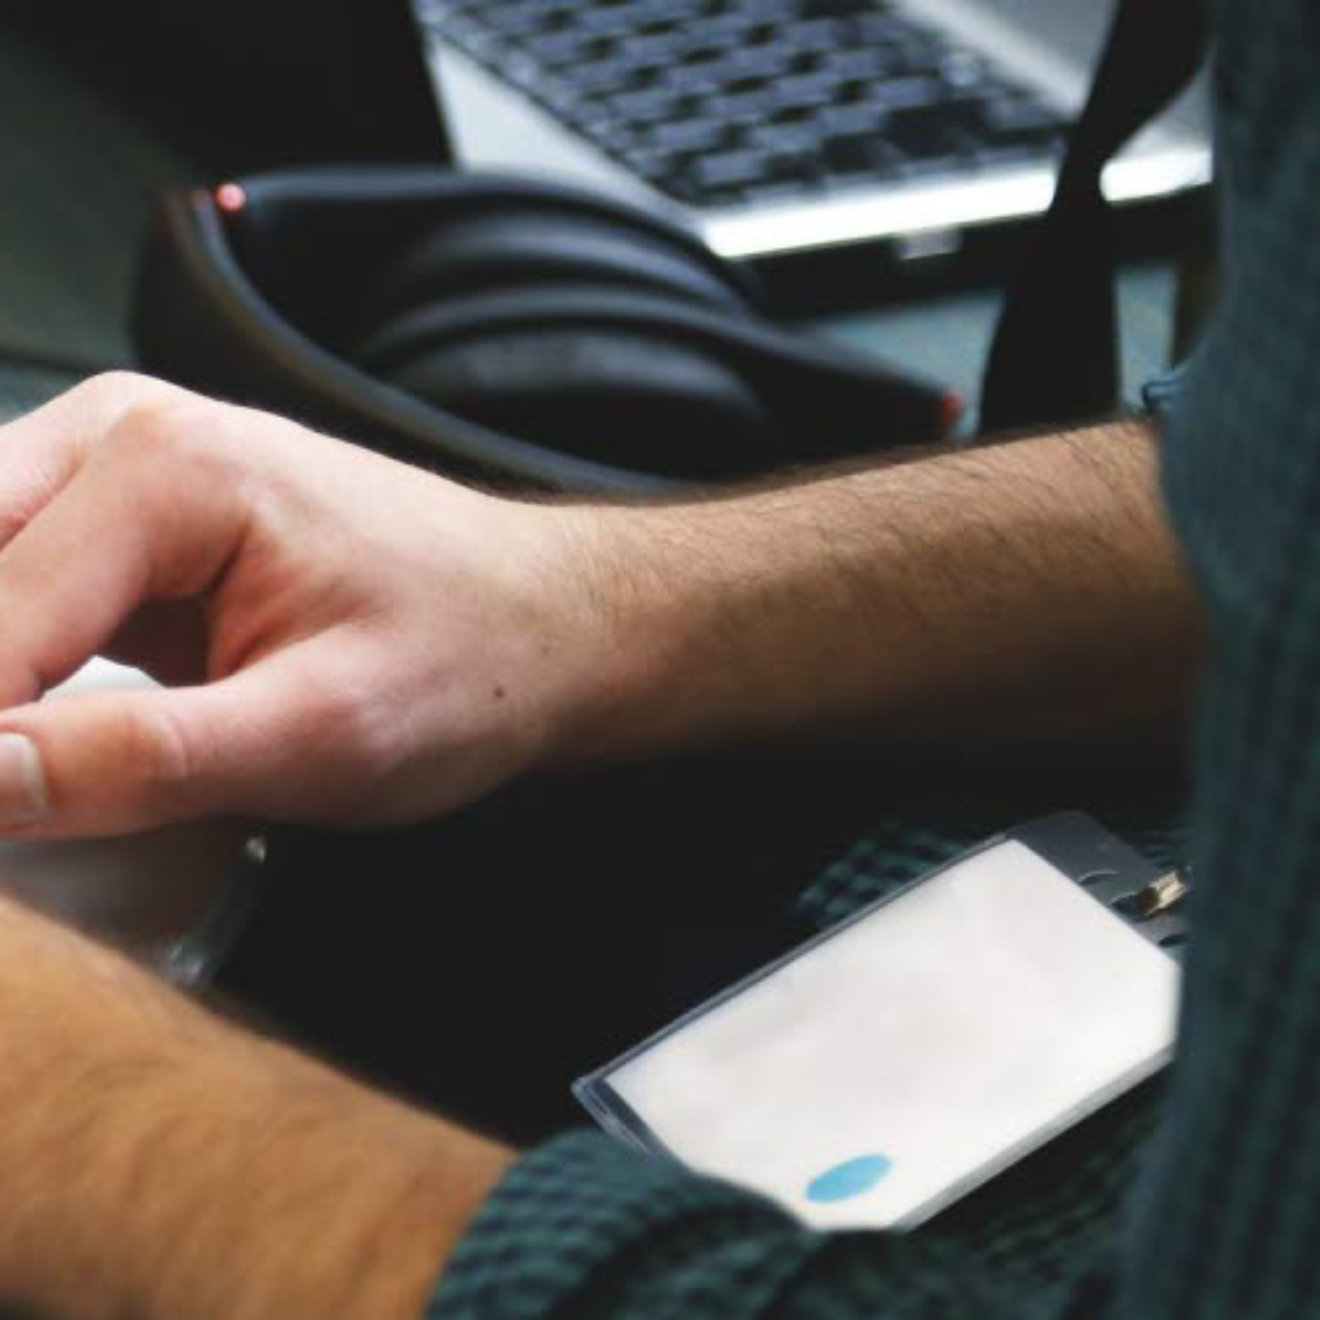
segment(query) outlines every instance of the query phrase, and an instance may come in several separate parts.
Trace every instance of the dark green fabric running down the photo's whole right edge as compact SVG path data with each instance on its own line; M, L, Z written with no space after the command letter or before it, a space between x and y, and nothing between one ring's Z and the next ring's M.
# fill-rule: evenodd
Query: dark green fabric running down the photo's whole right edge
M1320 9L1217 5L1224 301L1166 484L1216 630L1197 928L1130 1315L1320 1313Z

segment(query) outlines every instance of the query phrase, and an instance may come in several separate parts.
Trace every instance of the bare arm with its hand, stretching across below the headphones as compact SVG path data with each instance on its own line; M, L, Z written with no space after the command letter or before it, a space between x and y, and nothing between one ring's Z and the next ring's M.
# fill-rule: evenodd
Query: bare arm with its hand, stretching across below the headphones
M418 820L739 739L1093 756L1175 729L1195 663L1133 425L615 506L500 499L133 378L3 447L0 828L28 838ZM37 700L98 652L172 686Z

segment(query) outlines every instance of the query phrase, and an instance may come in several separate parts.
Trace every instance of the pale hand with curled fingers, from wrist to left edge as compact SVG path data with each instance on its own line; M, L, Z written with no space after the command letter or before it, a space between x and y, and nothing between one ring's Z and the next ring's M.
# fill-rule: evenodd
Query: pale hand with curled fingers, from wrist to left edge
M158 381L75 388L0 430L0 829L484 792L601 648L578 523ZM168 686L38 701L94 653Z

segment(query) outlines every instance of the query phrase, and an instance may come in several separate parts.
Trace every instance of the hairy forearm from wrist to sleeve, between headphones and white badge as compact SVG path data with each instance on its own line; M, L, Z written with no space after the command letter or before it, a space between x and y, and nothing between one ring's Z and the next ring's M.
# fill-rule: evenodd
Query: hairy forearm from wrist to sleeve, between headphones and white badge
M598 508L612 643L570 756L780 735L906 755L1175 725L1197 627L1139 424Z

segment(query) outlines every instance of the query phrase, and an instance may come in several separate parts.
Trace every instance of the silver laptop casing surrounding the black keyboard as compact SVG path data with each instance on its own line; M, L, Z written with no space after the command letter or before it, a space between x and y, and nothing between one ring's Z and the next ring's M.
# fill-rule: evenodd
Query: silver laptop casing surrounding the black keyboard
M747 0L755 5L756 0ZM1016 222L1049 202L1053 166L1041 161L950 168L913 180L859 181L828 195L805 191L693 209L665 197L446 36L463 5L414 0L429 65L458 161L577 181L692 220L729 257L781 256L888 242L900 257L956 251L969 230ZM458 11L455 13L455 11ZM894 0L974 57L1072 116L1085 99L1110 17L1109 0ZM1205 95L1195 87L1115 158L1105 176L1119 205L1167 198L1210 176Z

